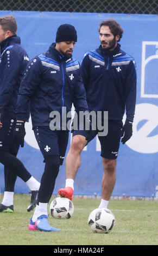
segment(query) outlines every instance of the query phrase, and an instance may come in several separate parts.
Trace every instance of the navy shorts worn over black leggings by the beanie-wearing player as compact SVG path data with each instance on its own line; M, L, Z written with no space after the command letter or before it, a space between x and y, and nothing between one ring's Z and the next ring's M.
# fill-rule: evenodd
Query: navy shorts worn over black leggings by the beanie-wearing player
M52 131L49 126L38 126L33 130L43 157L58 155L62 165L67 149L68 131Z

